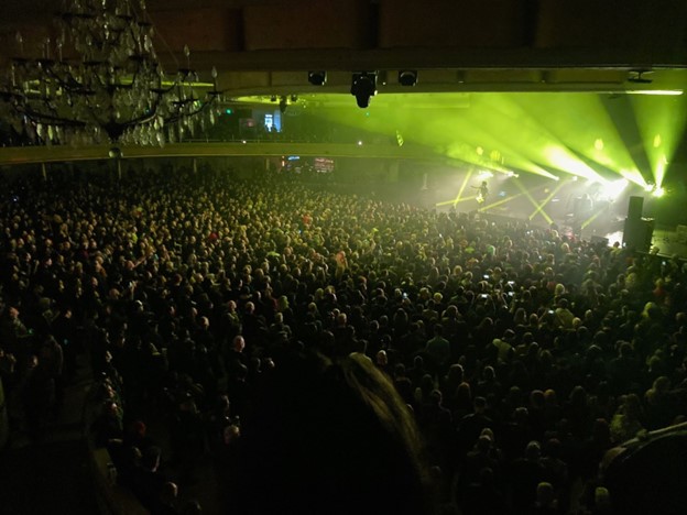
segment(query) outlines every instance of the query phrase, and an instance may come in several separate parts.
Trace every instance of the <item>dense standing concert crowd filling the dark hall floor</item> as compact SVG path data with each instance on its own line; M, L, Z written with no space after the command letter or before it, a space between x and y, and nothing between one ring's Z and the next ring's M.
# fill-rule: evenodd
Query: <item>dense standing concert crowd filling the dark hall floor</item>
M84 352L95 445L154 514L198 513L177 492L208 453L237 513L603 514L607 451L684 420L677 256L264 174L10 184L18 429L42 437Z

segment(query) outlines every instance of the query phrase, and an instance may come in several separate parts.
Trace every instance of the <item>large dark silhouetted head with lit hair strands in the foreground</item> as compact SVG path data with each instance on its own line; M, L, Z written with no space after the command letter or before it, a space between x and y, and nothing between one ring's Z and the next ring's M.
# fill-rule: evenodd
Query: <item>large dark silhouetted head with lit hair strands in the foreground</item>
M419 432L369 359L284 360L254 405L241 442L240 513L429 513Z

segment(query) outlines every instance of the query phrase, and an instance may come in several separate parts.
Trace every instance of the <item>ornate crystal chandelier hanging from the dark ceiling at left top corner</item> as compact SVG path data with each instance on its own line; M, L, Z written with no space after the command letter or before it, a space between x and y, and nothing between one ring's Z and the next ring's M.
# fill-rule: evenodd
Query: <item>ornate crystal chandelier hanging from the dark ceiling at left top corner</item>
M199 84L186 67L167 74L153 48L144 0L65 0L56 37L39 57L19 56L0 78L0 117L36 144L164 145L215 123L217 70Z

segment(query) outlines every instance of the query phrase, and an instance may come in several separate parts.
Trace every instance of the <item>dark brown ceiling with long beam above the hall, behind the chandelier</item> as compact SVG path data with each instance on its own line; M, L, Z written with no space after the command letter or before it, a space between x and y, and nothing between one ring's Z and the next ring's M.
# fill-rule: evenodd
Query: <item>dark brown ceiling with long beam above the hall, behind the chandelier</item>
M54 34L54 0L3 0L0 67ZM684 0L149 0L170 69L190 64L233 95L345 91L355 70L418 70L414 91L684 89ZM642 80L639 70L646 70Z

